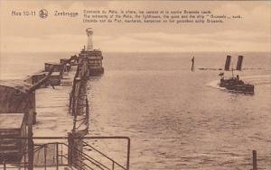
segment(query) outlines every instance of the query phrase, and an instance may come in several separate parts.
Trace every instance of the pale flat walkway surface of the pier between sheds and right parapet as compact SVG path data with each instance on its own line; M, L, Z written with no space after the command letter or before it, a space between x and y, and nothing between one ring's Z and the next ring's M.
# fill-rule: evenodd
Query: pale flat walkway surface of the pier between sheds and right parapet
M75 67L73 68L75 69ZM75 71L63 74L60 85L36 90L37 126L34 136L66 136L72 129L73 117L69 112L69 96Z

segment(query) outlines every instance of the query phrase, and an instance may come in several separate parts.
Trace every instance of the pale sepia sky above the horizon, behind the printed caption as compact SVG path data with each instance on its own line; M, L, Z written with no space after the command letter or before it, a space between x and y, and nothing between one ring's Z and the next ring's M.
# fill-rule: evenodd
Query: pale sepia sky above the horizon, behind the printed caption
M49 17L12 16L40 11ZM242 15L217 24L86 23L83 10L210 10ZM54 17L55 10L79 17ZM270 1L7 1L0 0L0 51L79 51L94 31L95 49L113 52L271 51Z

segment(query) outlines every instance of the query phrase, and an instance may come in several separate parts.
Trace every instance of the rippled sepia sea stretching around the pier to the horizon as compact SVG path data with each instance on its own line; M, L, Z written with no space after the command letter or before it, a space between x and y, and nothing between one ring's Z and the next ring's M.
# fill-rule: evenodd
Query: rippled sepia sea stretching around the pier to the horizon
M89 135L130 137L131 169L248 170L253 149L259 169L271 169L271 56L231 53L234 65L244 56L234 74L255 85L245 95L218 88L220 70L198 69L222 68L228 54L104 53L105 74L89 81ZM22 78L71 55L2 54L0 76Z

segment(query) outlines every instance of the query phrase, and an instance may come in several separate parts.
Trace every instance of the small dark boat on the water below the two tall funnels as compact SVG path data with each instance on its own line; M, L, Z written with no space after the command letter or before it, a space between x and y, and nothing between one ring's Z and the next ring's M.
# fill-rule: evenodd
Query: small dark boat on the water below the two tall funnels
M239 79L239 76L232 76L229 79L220 78L220 87L244 94L254 94L254 85L245 84Z

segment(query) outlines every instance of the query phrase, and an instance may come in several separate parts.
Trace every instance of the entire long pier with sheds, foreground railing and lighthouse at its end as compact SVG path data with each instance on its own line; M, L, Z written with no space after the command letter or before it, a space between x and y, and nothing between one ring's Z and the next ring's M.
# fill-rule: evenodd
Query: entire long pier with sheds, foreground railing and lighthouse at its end
M20 80L0 80L0 166L33 170L129 168L130 139L88 137L89 76L101 76L102 52L93 49L91 29L88 46L79 56L45 62L42 71ZM126 164L117 163L91 140L126 141ZM102 160L106 161L102 162ZM109 168L110 167L110 168Z

